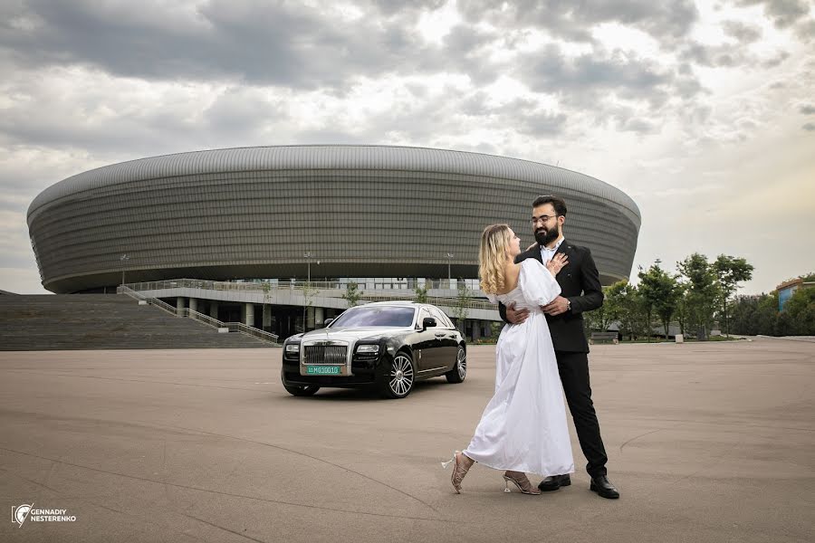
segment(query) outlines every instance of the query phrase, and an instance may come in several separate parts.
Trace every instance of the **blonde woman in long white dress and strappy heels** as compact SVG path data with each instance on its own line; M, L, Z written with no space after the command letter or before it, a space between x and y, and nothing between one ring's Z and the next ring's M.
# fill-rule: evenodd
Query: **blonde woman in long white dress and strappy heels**
M512 482L524 494L541 493L524 472L543 477L574 472L561 378L541 311L561 293L555 276L566 265L566 255L557 254L544 267L533 258L516 264L520 252L520 240L508 225L484 229L478 255L481 290L493 303L515 303L529 309L530 316L504 326L498 338L495 394L470 444L450 460L457 493L475 462L505 470L504 491Z

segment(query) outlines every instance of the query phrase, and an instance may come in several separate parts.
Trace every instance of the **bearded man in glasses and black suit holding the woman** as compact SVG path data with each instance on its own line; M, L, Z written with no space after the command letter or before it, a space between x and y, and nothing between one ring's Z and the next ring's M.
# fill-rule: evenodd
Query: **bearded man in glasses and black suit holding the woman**
M566 221L566 202L553 195L538 196L532 203L532 232L537 244L517 256L515 262L536 258L542 263L549 262L557 252L566 253L568 263L557 275L561 285L561 296L549 305L543 306L549 323L551 341L558 360L563 392L569 404L574 428L580 440L580 448L589 463L586 470L591 477L590 490L603 498L619 498L619 492L606 476L606 450L599 434L599 423L594 405L591 402L589 385L589 344L583 332L583 311L596 310L603 304L603 291L599 273L591 252L586 247L572 245L563 238L563 223ZM515 310L499 306L501 318L518 324L529 316L528 310ZM542 491L557 491L561 486L569 486L568 473L546 477L538 488Z

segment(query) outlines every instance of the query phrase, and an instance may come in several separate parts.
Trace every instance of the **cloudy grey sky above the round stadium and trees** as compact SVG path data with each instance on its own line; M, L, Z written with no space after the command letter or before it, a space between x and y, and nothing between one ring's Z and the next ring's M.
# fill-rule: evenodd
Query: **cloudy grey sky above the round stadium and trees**
M44 292L25 213L92 167L298 143L570 168L643 215L635 273L815 271L815 1L3 0L0 289ZM567 231L568 233L568 231Z

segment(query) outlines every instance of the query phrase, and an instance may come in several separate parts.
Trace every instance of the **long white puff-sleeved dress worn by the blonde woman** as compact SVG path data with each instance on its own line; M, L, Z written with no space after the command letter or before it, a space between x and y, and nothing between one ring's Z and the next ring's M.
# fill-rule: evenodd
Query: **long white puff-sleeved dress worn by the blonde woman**
M507 324L495 349L495 395L484 408L464 453L491 468L538 475L574 472L561 377L549 325L540 306L561 293L541 262L521 263L518 286L491 295L494 303L527 308L522 324Z

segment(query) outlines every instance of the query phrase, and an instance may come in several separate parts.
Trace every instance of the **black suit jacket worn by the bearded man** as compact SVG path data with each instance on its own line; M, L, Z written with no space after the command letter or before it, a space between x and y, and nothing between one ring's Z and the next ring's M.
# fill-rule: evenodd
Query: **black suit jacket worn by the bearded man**
M597 266L591 258L588 247L572 245L564 239L557 252L565 252L569 259L569 263L555 279L561 285L561 296L571 302L571 310L555 317L546 316L551 342L557 351L588 353L589 342L586 341L586 334L583 331L583 311L596 310L603 305L603 291ZM515 258L515 263L528 258L542 262L540 248L535 246L529 251L522 252ZM498 310L501 318L509 322L506 320L506 308L503 303L498 305Z

